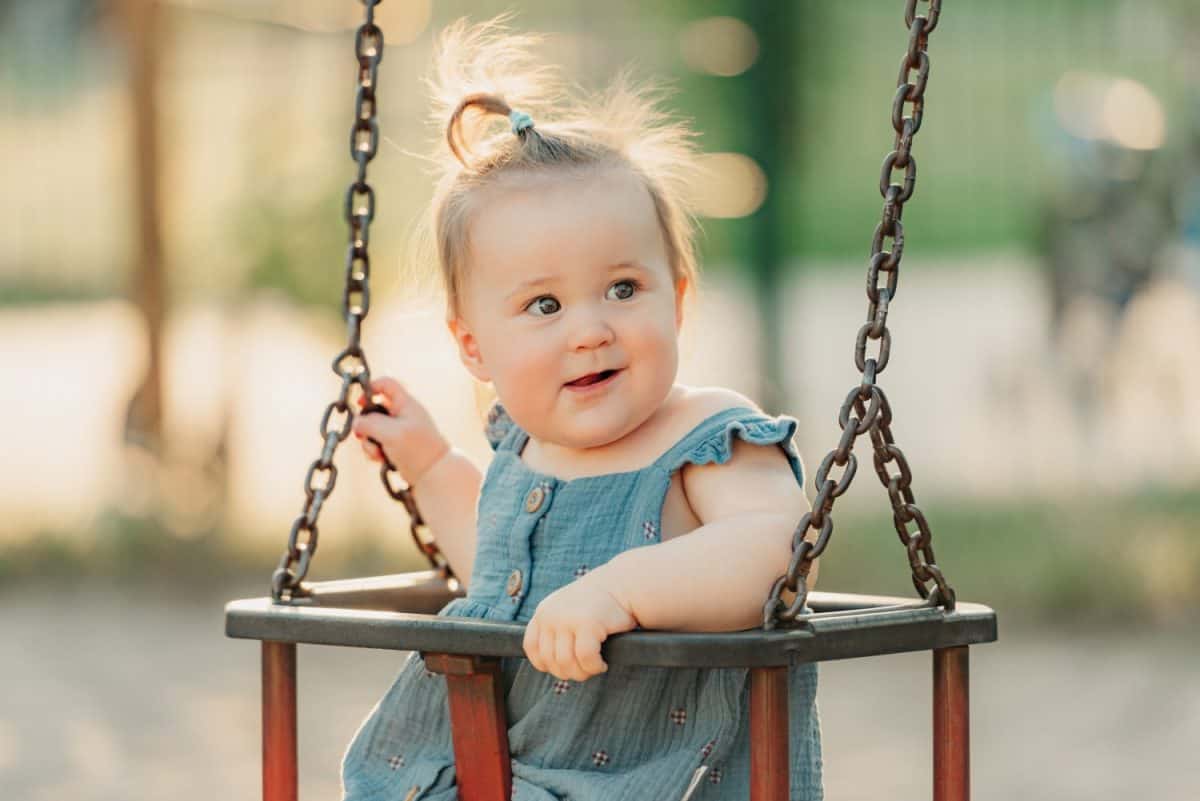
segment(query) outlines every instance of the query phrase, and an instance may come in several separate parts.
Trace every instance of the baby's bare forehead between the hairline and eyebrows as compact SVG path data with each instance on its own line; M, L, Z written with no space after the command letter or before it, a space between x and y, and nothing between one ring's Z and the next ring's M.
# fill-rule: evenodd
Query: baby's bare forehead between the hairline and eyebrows
M475 198L468 224L468 271L510 283L563 264L667 264L654 200L623 165L526 170Z

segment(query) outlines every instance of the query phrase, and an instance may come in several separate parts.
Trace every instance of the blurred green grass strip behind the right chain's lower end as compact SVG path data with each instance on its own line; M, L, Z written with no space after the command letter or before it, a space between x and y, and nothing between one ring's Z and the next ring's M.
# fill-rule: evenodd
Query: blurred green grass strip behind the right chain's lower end
M836 520L820 588L912 595L890 510ZM1042 622L1186 620L1200 603L1200 494L920 504L958 596Z

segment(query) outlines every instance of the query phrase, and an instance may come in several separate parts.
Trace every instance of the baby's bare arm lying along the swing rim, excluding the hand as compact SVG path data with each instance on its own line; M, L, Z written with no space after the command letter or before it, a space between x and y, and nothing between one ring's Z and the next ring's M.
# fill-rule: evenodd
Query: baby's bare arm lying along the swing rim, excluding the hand
M792 532L809 510L803 488L780 447L738 439L727 463L683 470L684 492L702 525L623 552L590 578L602 580L643 628L719 632L761 626L767 594L787 571ZM816 573L814 562L809 586ZM784 601L792 597L785 590Z

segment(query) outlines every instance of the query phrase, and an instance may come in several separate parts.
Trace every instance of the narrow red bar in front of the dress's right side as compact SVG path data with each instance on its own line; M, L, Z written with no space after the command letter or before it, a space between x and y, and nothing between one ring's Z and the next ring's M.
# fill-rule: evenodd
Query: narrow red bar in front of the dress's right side
M750 801L787 801L787 668L750 670Z

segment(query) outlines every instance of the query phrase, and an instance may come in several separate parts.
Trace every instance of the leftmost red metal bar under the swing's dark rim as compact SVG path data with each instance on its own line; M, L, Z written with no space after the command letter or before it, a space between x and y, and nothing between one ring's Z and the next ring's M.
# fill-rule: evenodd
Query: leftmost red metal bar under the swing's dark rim
M263 640L263 801L296 797L296 645Z

